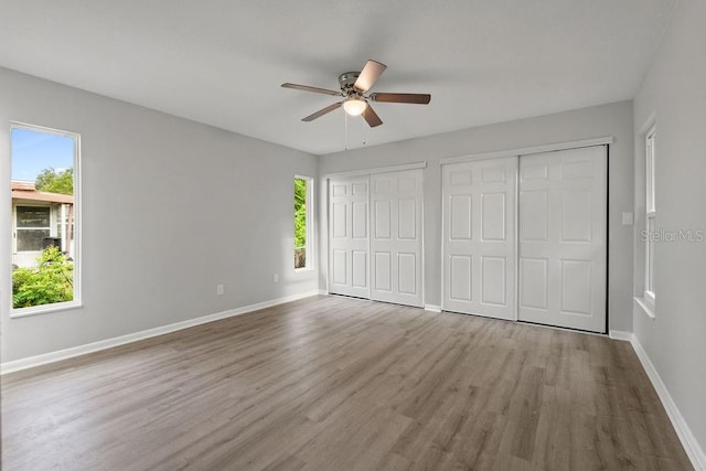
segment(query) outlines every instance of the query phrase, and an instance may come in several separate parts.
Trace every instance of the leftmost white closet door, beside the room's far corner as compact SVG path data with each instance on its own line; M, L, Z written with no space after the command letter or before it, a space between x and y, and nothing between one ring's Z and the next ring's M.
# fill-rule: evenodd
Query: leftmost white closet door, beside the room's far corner
M370 298L368 176L329 182L329 292Z

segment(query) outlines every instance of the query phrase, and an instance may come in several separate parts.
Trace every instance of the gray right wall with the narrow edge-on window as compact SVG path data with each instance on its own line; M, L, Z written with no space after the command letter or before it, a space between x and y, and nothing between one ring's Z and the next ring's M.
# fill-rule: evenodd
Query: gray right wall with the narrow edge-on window
M706 2L682 0L634 100L635 214L644 212L643 127L654 115L657 229L706 231ZM635 296L644 245L635 224ZM706 450L706 242L655 244L656 315L634 309L634 334Z

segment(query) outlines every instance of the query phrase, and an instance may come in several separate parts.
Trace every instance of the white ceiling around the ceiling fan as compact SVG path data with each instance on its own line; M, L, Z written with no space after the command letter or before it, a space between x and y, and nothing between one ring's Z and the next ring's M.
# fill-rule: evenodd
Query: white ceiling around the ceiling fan
M634 96L675 0L2 0L0 66L323 154ZM371 129L335 97L367 58Z

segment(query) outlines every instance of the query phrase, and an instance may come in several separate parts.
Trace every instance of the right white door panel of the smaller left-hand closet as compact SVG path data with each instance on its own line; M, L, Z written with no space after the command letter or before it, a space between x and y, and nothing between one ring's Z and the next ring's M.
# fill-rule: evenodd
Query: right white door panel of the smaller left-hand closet
M421 170L371 175L371 287L375 301L422 306Z

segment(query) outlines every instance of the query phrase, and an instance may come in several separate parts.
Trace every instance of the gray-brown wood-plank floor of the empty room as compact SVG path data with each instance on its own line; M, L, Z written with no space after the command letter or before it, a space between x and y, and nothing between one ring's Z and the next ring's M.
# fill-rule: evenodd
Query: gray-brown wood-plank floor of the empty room
M6 375L2 468L691 465L627 342L319 297Z

